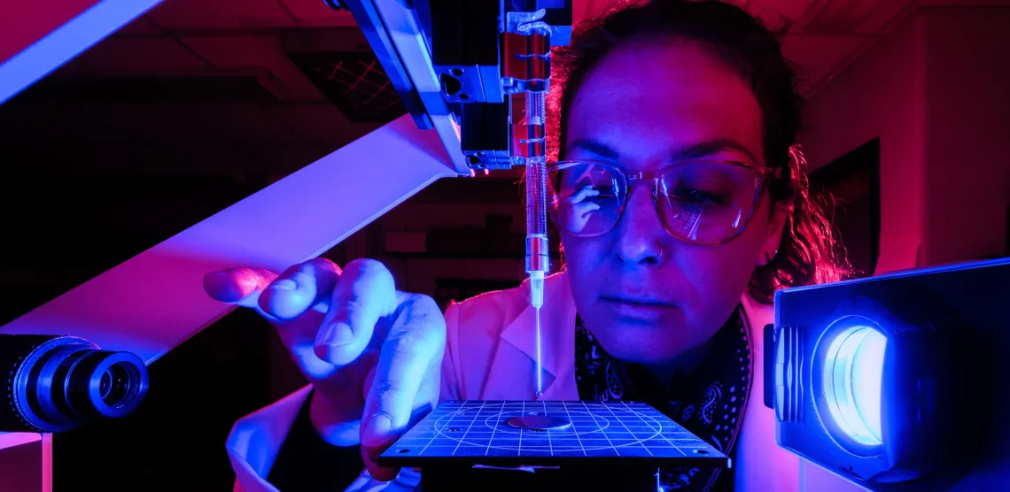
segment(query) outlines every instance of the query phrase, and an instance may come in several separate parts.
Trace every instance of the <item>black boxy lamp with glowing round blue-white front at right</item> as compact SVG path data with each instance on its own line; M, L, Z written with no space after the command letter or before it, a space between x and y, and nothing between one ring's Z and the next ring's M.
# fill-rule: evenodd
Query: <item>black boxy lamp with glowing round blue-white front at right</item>
M986 347L1008 300L1010 258L778 292L765 403L779 446L871 490L953 487L989 423L973 386L1001 384L984 367L1000 364Z

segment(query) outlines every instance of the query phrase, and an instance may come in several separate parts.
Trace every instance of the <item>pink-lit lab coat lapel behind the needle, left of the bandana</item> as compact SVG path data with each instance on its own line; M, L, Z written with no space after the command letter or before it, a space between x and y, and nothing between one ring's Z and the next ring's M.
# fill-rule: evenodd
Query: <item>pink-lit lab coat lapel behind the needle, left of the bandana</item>
M529 279L519 287L525 307L502 331L501 339L536 361L536 310L529 305ZM543 307L540 309L540 355L543 371L543 399L560 396L559 379L575 367L575 300L564 271L543 280ZM495 364L498 365L498 364ZM535 371L535 369L534 369ZM534 372L535 376L535 372Z

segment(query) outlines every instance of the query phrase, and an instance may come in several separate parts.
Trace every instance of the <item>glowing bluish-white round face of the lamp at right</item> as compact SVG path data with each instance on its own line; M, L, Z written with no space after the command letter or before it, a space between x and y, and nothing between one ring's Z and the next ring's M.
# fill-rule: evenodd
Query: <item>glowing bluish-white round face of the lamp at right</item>
M824 397L845 435L865 446L880 446L881 388L887 338L856 326L831 342L824 359Z

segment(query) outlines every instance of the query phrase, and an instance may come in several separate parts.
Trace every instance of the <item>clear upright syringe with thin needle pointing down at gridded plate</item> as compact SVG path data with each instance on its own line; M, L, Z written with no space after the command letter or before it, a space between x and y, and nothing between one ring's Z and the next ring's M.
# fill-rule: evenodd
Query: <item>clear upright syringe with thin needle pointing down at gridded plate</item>
M543 394L540 366L540 307L543 277L550 271L547 241L547 165L544 93L526 93L526 273L529 300L536 313L536 396Z

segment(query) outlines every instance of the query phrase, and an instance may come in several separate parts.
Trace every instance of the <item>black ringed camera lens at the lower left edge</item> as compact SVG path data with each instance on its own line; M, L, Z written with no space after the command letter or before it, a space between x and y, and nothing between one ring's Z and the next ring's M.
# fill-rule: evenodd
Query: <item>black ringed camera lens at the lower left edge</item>
M0 335L0 370L12 375L0 432L57 433L92 417L125 416L147 392L139 357L75 337Z

